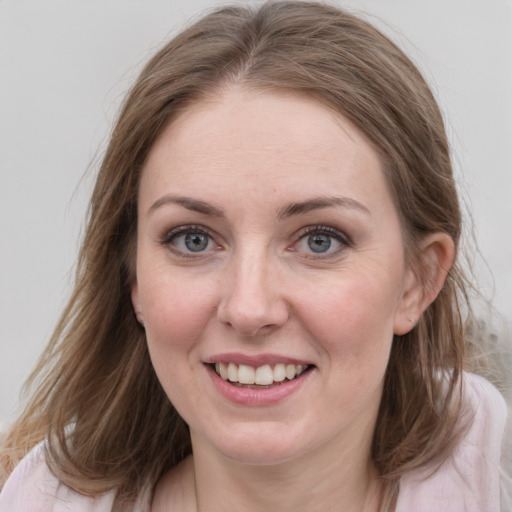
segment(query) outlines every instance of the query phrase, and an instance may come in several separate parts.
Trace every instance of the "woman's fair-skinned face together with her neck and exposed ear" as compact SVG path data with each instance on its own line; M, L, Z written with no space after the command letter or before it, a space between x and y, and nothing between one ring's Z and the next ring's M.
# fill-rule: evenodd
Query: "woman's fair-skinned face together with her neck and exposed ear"
M152 510L378 510L393 335L442 285L449 238L424 241L425 291L365 137L303 96L234 87L164 130L138 208L132 302L194 452Z

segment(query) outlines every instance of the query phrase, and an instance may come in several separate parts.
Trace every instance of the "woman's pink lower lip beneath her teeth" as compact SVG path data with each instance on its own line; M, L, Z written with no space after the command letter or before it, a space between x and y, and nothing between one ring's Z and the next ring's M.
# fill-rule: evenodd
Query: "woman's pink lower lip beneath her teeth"
M314 371L306 371L293 380L285 381L283 384L271 388L253 389L233 386L217 375L210 366L206 366L206 368L215 387L224 398L227 398L230 402L235 404L251 406L272 405L281 402L296 393Z

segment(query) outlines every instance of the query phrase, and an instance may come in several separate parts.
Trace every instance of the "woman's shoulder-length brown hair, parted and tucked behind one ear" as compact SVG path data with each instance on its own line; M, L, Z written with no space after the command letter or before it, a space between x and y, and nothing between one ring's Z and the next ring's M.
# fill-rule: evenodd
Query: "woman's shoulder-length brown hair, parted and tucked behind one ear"
M445 232L458 244L443 119L395 44L326 4L270 2L208 14L149 61L125 100L91 200L73 295L5 440L6 474L46 438L48 462L64 483L90 495L118 488L121 503L190 453L187 426L160 387L130 301L137 193L164 126L230 84L309 95L366 135L381 156L408 262L419 275L425 234ZM449 453L456 439L459 297L464 279L455 266L417 326L393 342L372 453L389 489L404 472Z

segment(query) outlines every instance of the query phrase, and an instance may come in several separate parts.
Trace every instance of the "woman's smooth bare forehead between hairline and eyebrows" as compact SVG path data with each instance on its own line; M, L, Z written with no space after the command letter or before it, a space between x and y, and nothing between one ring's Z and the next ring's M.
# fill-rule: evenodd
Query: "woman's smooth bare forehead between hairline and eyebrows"
M334 190L389 203L379 156L366 137L317 100L289 92L232 88L192 104L151 149L141 200L176 187L211 195L233 180L242 198L249 188L297 196Z

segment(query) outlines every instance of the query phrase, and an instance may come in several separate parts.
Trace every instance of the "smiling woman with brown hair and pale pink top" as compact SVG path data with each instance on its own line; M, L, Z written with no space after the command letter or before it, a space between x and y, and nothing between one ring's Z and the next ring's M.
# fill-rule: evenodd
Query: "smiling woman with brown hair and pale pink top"
M0 510L499 510L460 232L393 43L315 3L205 16L125 101Z

